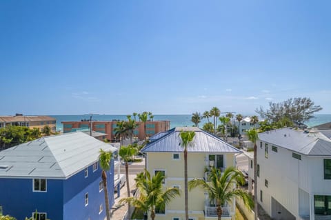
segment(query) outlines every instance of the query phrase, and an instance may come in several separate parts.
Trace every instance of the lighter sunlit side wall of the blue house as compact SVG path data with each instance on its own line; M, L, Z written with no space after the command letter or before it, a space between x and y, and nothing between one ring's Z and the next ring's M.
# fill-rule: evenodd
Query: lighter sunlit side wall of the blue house
M111 163L111 170L107 173L110 207L114 204L114 161L112 160ZM84 170L82 170L64 183L64 219L105 219L105 198L104 192L99 192L100 181L100 166L97 171L93 172L91 165L88 167L88 177L85 177ZM88 206L85 206L86 192L88 192ZM99 214L99 206L101 203L103 204L103 212Z

